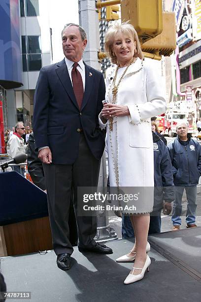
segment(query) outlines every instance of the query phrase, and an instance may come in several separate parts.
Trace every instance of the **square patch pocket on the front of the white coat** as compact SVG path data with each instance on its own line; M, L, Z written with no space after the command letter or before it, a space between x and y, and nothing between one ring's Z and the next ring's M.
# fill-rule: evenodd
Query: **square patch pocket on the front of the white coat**
M149 123L129 124L129 146L133 148L153 148L151 126Z

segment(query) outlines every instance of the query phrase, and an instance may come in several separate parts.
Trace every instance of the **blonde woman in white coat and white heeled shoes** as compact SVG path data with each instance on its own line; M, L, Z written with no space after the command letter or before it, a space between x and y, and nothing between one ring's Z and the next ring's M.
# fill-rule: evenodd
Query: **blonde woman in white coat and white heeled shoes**
M134 262L124 281L143 278L151 261L147 252L149 213L153 207L154 159L151 116L166 111L164 90L156 71L143 61L139 39L128 23L115 23L105 34L105 49L116 69L106 81L106 104L100 113L100 127L107 124L110 187L148 188L136 210L129 211L134 227L132 251L117 262ZM127 211L128 212L128 211Z

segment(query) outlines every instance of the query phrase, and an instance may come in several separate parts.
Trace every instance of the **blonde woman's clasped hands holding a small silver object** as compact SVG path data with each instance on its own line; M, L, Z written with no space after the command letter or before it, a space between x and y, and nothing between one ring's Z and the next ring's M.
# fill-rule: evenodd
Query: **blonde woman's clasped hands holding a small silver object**
M129 115L129 109L124 105L116 105L116 104L104 104L102 109L102 117L106 119L110 119L114 116L125 116Z

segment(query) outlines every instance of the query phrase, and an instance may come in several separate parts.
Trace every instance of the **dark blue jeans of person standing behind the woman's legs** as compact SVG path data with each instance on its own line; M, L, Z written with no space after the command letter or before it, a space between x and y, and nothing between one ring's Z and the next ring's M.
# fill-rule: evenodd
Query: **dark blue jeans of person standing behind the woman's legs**
M161 232L161 211L150 214L150 224L148 234L157 234ZM122 238L134 237L134 228L129 216L122 214Z

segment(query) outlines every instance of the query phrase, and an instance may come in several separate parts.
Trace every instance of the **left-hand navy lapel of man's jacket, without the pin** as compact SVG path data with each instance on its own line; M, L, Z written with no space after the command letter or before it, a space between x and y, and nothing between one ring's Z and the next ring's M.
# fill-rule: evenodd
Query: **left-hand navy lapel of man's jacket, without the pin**
M67 71L67 65L66 65L65 59L62 60L61 62L57 63L56 73L59 76L59 79L62 82L62 85L64 86L64 89L66 90L69 98L71 99L73 104L79 109L73 89L72 89L72 83L71 83L71 80L70 80L70 77L69 77L69 74Z

